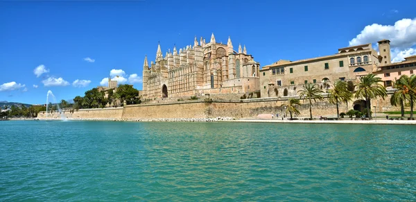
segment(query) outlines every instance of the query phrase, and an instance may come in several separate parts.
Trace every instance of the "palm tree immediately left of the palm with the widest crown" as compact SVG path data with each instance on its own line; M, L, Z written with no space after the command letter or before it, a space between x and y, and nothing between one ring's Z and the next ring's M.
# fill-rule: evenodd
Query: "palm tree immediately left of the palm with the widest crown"
M347 83L345 81L336 81L329 90L329 103L336 104L336 117L338 119L340 118L338 103L347 103L350 100L352 100L352 92L348 90Z

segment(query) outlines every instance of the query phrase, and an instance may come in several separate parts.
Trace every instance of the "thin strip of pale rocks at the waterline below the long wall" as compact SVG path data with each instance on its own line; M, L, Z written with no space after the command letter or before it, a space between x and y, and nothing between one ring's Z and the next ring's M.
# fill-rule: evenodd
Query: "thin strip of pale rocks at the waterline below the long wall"
M59 121L61 119L38 118L45 121ZM214 122L232 121L234 117L215 118L144 118L144 119L114 119L114 118L68 118L67 121L138 121L138 122Z

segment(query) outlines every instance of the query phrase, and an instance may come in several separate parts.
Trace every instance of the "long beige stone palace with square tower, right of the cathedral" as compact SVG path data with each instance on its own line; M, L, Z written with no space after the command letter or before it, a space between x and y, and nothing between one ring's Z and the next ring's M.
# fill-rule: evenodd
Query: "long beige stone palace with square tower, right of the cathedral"
M331 56L306 60L279 60L260 70L261 97L296 96L304 83L316 83L327 90L330 82L356 81L390 65L390 41L378 42L380 54L371 44L338 49Z

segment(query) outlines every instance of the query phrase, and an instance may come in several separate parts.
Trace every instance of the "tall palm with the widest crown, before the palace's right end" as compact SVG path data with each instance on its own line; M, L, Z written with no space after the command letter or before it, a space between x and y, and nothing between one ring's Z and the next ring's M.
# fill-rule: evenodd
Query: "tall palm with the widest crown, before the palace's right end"
M377 97L381 96L381 98L385 98L387 96L387 91L385 87L381 85L381 78L376 77L374 74L367 74L360 78L360 83L357 85L356 91L356 98L363 97L365 99L366 108L367 108L367 117L372 119L371 117L371 108L370 108L370 101L371 99L376 99Z

